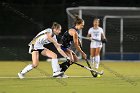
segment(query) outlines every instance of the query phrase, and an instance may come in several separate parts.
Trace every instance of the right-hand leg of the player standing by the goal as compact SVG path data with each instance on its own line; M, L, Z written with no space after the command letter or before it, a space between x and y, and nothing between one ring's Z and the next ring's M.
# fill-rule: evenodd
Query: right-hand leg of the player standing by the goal
M101 51L100 47L96 48L96 51L95 51L95 68L96 69L99 68L99 64L100 64L100 51Z

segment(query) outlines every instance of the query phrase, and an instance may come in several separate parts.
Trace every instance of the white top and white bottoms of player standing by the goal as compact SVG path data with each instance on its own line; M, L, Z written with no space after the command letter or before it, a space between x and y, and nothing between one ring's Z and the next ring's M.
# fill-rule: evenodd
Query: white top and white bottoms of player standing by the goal
M91 35L92 39L101 40L101 35L103 34L103 29L101 27L98 27L97 29L94 29L91 27L88 31L88 34ZM91 41L90 48L98 48L102 47L102 43L98 41Z

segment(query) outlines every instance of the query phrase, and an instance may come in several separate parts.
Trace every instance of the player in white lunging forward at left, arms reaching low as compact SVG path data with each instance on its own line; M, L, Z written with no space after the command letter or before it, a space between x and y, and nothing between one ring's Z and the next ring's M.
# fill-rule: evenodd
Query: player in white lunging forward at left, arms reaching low
M61 25L54 22L52 28L47 28L41 31L35 36L35 38L33 38L33 40L29 43L29 53L32 54L32 64L27 65L23 70L21 70L20 73L18 73L20 79L23 79L27 72L39 65L39 54L52 59L51 64L53 69L53 77L63 74L58 64L57 55L53 51L43 47L44 44L53 43L58 52L69 60L70 58L63 52L60 44L57 43L56 35L58 35L60 32Z

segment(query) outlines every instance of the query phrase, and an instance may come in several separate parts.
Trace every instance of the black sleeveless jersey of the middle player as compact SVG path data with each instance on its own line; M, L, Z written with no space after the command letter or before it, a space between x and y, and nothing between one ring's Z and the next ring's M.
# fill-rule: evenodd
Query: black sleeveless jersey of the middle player
M73 27L72 29L75 29L76 31L78 31L78 30L77 30L76 28L74 28L74 27ZM65 47L65 48L68 48L68 47L71 46L72 42L73 42L73 36L71 36L71 35L69 34L69 32L66 31L66 32L63 34L63 36L62 36L62 46Z

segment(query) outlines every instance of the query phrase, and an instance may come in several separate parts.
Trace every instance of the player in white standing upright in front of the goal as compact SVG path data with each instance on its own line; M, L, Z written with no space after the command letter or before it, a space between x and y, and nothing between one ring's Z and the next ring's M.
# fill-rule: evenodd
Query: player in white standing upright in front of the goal
M100 19L94 18L93 27L91 27L88 31L87 37L90 37L90 57L91 64L93 68L98 69L100 63L100 51L102 48L102 43L106 43L107 39L103 32L103 29L99 27ZM100 42L99 42L100 41Z

